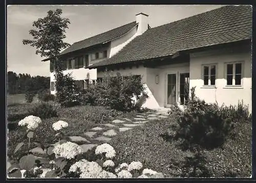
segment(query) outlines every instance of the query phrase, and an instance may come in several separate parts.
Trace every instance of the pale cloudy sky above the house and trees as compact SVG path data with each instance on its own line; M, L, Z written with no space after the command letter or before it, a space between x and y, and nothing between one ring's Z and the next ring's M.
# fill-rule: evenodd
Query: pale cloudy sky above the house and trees
M62 17L70 19L65 42L74 42L95 36L136 21L135 15L145 13L151 28L222 5L10 5L7 7L7 71L31 76L50 76L50 63L36 55L36 49L24 45L23 39L32 39L29 30L38 18L49 10L62 9Z

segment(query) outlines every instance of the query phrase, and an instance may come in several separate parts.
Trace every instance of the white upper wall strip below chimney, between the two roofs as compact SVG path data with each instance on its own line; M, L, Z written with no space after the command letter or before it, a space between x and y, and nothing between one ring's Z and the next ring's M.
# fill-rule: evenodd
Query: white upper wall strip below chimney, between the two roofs
M127 43L132 41L137 36L137 27L127 32L123 36L111 41L110 57L118 53Z

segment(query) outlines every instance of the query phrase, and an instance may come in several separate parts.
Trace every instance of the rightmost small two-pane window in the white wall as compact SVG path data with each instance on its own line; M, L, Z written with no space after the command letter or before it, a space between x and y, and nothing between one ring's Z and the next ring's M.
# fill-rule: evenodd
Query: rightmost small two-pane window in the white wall
M242 81L242 63L226 64L226 80L227 85L239 85Z

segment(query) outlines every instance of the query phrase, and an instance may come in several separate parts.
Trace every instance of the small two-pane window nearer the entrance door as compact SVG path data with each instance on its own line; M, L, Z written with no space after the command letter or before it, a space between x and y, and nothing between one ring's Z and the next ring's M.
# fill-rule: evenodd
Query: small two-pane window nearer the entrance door
M204 85L215 85L216 82L216 65L203 66Z

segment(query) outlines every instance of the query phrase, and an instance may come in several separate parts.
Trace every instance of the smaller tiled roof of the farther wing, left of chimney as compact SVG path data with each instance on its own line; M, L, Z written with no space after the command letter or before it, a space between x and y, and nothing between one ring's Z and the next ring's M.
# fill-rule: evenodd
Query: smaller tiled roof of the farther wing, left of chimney
M121 27L118 27L116 29L112 29L110 31L104 32L102 34L98 34L96 36L84 39L82 41L75 42L67 49L63 50L60 55L64 55L67 53L70 53L75 50L79 50L82 48L87 48L96 44L101 44L104 42L111 41L112 39L115 39L119 36L122 36L123 34L129 32L132 28L134 28L136 25L136 21L133 21L131 23L127 23L125 25L122 25Z

